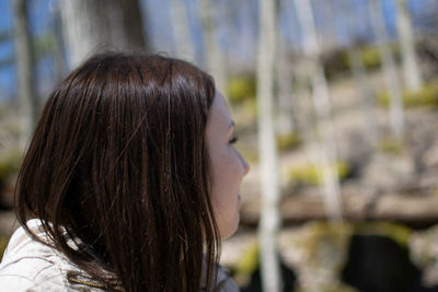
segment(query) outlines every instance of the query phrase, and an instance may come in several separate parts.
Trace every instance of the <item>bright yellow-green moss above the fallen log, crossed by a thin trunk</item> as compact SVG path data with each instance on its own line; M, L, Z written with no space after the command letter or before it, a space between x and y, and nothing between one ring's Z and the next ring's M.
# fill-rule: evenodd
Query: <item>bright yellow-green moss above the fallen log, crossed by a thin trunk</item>
M331 165L333 171L337 171L339 179L348 176L350 168L344 161L339 161ZM293 167L289 171L289 179L304 185L320 185L322 183L322 166L307 164L299 167Z

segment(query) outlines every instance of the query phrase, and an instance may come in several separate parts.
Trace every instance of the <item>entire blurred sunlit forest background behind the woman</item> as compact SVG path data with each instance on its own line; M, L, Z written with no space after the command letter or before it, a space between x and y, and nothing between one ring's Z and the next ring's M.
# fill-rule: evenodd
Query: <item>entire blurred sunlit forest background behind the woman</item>
M0 255L45 100L104 50L188 60L228 98L242 291L438 291L438 0L0 0Z

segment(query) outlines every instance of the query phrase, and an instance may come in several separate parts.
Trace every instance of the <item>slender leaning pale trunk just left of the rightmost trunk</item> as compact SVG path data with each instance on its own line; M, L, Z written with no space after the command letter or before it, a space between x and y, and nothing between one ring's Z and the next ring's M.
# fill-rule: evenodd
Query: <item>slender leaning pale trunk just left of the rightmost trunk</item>
M384 81L390 97L390 126L394 138L399 141L403 138L404 113L402 92L400 90L395 61L388 45L388 32L384 26L383 11L380 0L371 0L371 23L379 46L380 60L384 74Z

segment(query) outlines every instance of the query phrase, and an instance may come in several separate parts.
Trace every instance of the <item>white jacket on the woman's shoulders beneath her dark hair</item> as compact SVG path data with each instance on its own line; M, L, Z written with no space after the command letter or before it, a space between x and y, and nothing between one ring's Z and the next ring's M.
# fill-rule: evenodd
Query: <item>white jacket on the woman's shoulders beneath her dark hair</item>
M38 237L45 238L41 221L27 221L27 226ZM70 278L68 271L81 270L57 249L34 241L23 227L12 235L0 262L0 291L104 291L88 279ZM218 291L239 291L222 267L218 273Z

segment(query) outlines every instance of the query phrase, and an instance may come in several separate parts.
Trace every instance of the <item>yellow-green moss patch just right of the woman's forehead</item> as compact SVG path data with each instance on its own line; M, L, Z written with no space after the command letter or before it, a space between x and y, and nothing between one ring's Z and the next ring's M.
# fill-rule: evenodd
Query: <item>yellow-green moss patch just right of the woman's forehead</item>
M228 97L231 103L239 104L246 98L255 97L255 78L235 77L228 83Z

